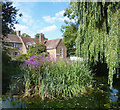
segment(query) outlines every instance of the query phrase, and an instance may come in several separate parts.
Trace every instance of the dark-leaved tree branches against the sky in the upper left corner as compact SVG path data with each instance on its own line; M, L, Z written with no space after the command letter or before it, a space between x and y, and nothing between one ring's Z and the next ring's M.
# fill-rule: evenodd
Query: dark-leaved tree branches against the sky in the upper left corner
M16 7L12 6L12 2L0 2L0 5L2 6L2 34L3 37L9 34L13 29L15 29L14 24L17 24L18 21L16 20L16 15L18 12L18 9ZM19 14L21 17L22 14Z

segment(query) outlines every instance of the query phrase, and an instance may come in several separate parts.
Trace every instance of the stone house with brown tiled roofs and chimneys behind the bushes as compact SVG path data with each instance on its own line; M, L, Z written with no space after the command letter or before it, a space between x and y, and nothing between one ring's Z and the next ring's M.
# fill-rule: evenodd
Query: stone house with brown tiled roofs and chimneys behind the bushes
M20 31L17 31L17 35L8 34L3 39L3 46L11 47L11 56L14 59L20 54L27 54L27 50L31 45L42 42L46 45L47 52L55 58L65 58L67 56L67 48L62 43L62 39L44 40L44 35L41 33L39 39L22 37Z

